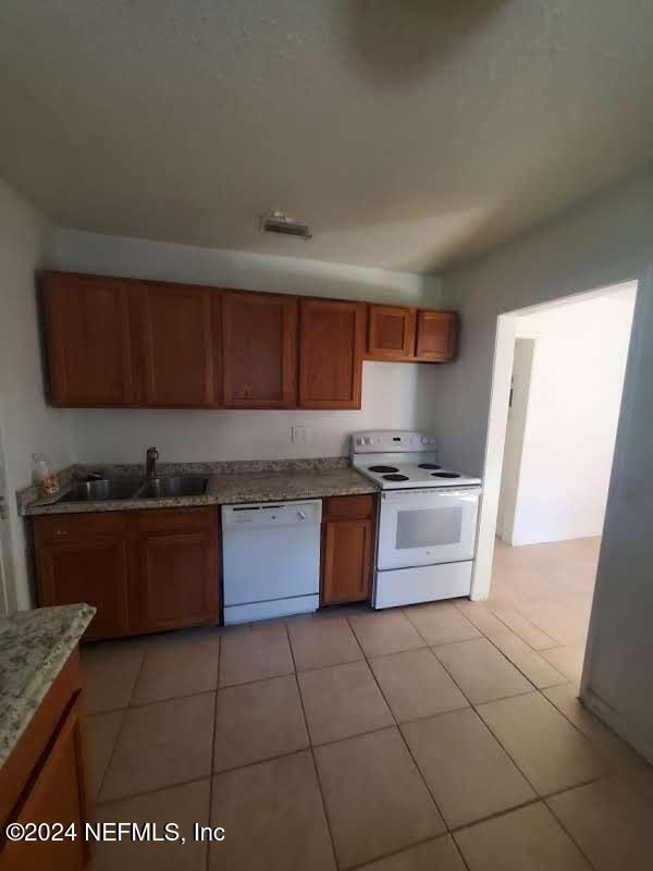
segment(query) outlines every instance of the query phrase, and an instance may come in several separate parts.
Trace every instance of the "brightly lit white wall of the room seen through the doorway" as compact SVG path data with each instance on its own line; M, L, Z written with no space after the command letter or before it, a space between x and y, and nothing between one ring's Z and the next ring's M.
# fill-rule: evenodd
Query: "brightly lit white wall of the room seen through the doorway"
M636 294L631 282L517 318L535 352L512 544L602 532Z

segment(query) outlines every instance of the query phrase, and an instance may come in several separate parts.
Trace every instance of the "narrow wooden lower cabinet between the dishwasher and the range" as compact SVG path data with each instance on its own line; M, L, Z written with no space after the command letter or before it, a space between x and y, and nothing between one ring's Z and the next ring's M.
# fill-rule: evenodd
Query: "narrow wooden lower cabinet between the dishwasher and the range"
M320 604L359 602L370 598L373 544L372 496L324 500Z

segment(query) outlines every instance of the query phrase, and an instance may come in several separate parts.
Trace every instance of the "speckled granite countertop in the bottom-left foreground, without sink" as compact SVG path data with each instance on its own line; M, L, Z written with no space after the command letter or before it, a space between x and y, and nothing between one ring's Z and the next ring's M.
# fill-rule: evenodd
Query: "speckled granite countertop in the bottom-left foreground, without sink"
M61 605L0 617L0 766L95 612L90 605Z

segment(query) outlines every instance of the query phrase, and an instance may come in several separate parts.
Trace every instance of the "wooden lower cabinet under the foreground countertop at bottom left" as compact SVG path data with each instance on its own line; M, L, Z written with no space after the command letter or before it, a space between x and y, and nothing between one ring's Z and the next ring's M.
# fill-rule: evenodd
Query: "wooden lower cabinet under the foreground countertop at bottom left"
M82 703L75 651L0 771L0 831L7 823L62 823L77 837L11 842L0 837L0 871L82 871L89 858L83 826L90 817Z

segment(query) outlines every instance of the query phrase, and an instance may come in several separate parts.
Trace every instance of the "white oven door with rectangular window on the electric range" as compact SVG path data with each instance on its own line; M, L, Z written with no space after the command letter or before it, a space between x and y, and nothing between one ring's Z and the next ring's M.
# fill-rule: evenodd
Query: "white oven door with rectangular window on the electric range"
M480 493L480 487L382 493L377 567L472 560Z

